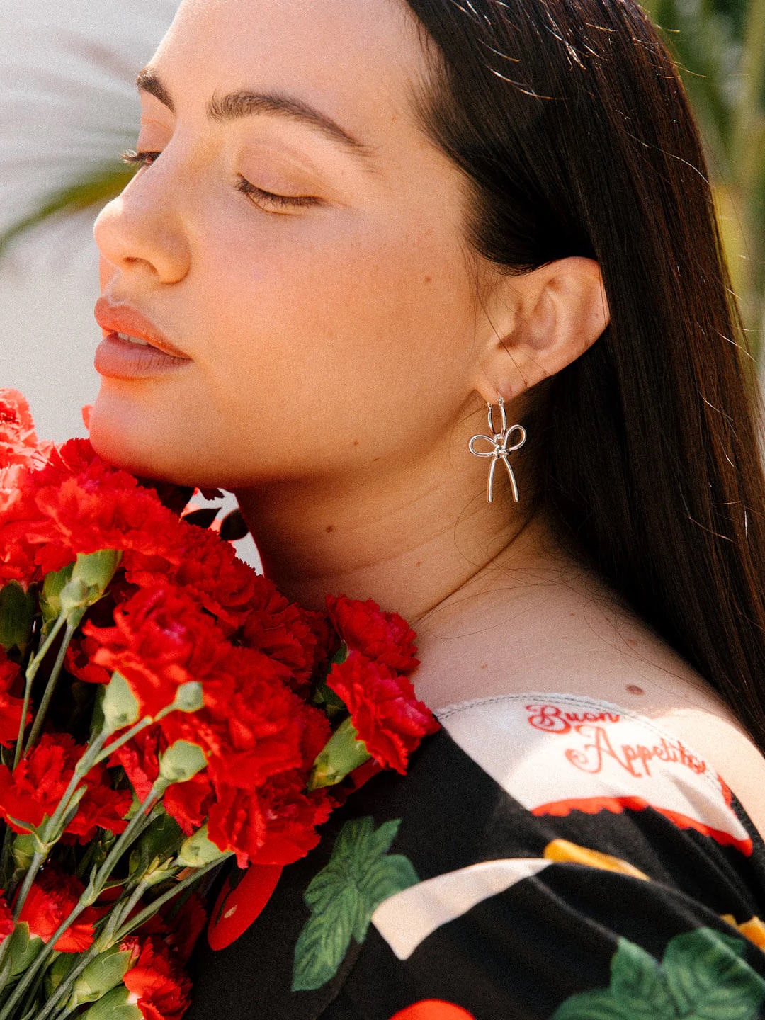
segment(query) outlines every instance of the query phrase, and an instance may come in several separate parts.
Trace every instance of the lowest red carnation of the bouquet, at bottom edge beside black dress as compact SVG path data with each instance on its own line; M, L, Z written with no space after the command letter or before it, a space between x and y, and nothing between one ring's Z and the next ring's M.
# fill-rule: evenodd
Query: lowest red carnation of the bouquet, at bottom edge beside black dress
M122 981L131 992L129 1002L138 1006L145 1020L181 1020L191 1004L191 981L180 954L156 935L142 940L138 959Z

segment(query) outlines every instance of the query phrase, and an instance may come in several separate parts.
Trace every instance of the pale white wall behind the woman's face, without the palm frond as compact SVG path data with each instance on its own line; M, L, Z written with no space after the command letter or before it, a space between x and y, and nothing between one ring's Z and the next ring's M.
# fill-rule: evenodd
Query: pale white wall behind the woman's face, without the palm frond
M0 228L40 197L135 143L136 72L175 0L0 0ZM98 390L93 216L19 240L0 260L0 387L21 390L38 431L84 435Z

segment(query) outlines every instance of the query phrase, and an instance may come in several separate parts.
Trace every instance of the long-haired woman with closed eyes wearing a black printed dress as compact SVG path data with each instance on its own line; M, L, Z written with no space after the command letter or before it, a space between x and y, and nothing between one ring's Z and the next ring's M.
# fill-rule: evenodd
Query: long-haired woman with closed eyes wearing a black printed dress
M184 0L138 84L94 445L407 616L443 726L228 877L191 1016L757 1016L754 373L645 15Z

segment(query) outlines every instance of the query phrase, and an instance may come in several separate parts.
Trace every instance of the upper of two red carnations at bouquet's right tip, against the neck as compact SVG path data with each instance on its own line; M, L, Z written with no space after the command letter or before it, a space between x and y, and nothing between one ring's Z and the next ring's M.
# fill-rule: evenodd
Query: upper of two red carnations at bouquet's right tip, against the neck
M349 649L369 659L407 672L418 664L413 644L417 636L398 613L384 613L376 602L358 602L344 595L326 597L326 608L336 630Z

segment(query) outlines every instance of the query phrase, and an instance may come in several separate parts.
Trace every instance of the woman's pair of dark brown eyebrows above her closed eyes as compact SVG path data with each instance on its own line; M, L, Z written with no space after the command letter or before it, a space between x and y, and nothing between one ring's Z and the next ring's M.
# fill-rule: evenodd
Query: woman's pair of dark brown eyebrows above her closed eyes
M166 87L151 67L144 67L136 78L136 85L140 92L148 92L155 96L160 103L163 103L172 113L175 107L172 97ZM295 99L291 96L284 96L278 93L231 92L225 96L213 95L207 104L207 116L210 120L225 122L228 120L239 120L242 117L254 116L258 113L270 113L289 120L297 120L308 124L320 132L324 137L333 142L340 142L356 155L370 157L371 149L359 142L347 131L340 126L332 117L325 113L320 113L312 106Z

